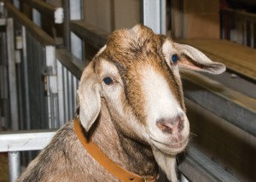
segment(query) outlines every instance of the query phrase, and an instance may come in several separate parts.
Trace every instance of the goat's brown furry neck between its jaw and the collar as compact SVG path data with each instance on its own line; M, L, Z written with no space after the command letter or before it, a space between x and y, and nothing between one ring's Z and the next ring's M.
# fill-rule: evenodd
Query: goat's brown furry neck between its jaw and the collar
M132 173L158 175L158 165L149 145L129 139L114 126L108 107L102 99L98 122L90 130L92 141L113 161Z

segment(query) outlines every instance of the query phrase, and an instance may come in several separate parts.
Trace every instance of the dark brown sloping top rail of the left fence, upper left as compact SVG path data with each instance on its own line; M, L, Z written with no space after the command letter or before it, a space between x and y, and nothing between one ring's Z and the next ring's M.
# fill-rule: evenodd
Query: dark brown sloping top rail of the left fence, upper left
M20 13L18 9L11 3L6 3L8 14L11 15L15 20L19 21L21 25L26 26L26 30L30 31L39 43L43 45L56 45L55 40L44 32L41 28L36 26L32 20L29 20L26 15Z

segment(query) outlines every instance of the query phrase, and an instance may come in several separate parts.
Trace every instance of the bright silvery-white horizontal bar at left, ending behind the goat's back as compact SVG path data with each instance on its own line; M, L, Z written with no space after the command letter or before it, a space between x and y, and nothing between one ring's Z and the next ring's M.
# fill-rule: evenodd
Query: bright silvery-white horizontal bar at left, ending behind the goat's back
M1 132L0 152L5 151L37 151L49 144L55 135L55 129L24 130Z

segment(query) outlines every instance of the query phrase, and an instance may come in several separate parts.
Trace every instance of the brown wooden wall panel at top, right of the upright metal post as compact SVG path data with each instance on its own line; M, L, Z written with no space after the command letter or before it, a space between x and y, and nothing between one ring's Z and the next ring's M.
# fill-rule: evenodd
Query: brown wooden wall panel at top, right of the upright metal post
M219 38L218 0L172 0L172 36Z

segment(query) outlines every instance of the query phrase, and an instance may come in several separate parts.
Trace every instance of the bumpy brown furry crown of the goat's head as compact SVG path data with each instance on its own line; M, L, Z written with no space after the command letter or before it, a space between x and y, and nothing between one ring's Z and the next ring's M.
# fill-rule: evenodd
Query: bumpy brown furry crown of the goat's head
M119 64L125 62L127 65L137 61L139 57L161 54L166 37L155 35L148 27L137 26L137 30L134 29L113 32L108 38L105 51L109 59L118 61Z

